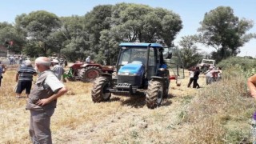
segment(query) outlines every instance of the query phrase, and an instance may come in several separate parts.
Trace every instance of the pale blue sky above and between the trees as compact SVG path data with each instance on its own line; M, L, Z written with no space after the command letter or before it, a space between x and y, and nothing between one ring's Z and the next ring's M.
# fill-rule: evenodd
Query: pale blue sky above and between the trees
M172 10L182 18L183 29L174 40L178 41L187 35L197 34L199 22L204 14L218 6L230 6L238 18L254 21L254 27L248 32L256 33L256 1L255 0L0 0L0 22L14 23L17 15L29 14L36 10L46 10L57 16L85 15L94 6L116 4L120 2L145 4L151 7L162 7ZM203 51L210 52L214 49L201 46ZM239 56L252 56L256 58L256 39L250 40L240 48Z

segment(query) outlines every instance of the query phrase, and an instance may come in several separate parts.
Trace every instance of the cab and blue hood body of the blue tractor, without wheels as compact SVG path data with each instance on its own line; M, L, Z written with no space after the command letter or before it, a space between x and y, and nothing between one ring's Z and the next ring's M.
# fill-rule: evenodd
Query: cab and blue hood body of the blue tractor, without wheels
M146 88L151 77L158 75L158 69L166 66L161 58L163 47L160 44L121 43L119 46L119 84L130 83L139 88Z

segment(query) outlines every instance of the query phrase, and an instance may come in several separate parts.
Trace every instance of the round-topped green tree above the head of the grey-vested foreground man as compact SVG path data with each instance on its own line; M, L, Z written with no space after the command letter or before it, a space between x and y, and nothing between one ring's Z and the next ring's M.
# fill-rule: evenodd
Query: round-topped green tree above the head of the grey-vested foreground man
M58 17L44 10L18 15L15 22L17 29L26 33L29 45L38 45L44 55L50 49L48 36L60 28Z

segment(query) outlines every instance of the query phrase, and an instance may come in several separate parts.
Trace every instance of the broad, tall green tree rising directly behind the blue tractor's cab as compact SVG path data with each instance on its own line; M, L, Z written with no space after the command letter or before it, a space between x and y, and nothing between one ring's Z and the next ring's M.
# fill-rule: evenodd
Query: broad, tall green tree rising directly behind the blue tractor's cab
M162 8L146 5L119 3L112 6L109 29L102 30L97 54L109 51L107 63L117 58L120 42L162 42L173 46L173 40L182 29L182 20L178 14ZM112 47L114 46L114 47ZM95 50L97 51L97 50ZM100 56L98 56L100 58Z

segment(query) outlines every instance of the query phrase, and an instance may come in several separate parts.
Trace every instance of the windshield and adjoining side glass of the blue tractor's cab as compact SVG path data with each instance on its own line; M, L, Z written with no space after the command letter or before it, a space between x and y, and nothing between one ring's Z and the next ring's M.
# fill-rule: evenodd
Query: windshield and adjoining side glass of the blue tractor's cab
M122 52L118 62L119 66L128 63L146 64L146 48L145 47L122 47ZM149 65L154 66L154 49L150 48Z

